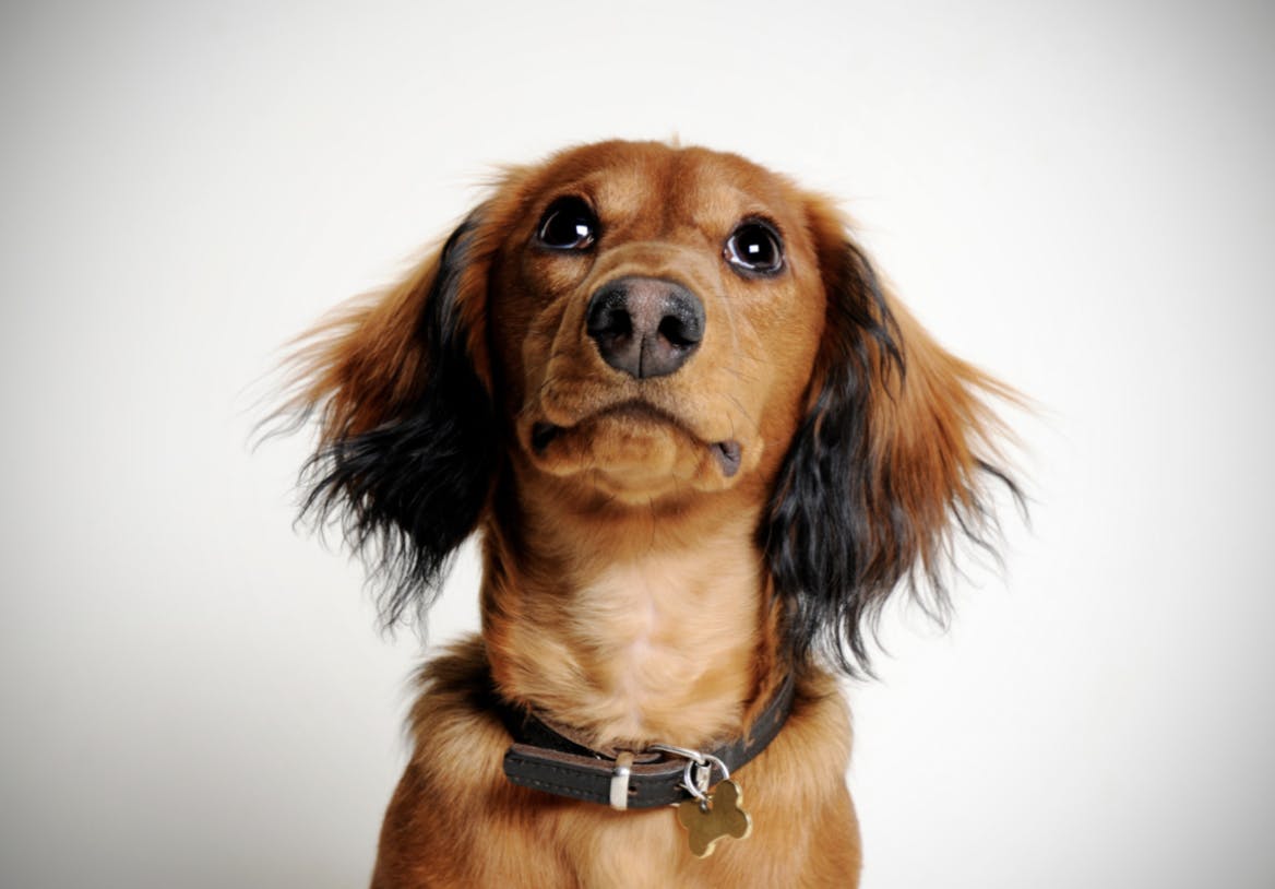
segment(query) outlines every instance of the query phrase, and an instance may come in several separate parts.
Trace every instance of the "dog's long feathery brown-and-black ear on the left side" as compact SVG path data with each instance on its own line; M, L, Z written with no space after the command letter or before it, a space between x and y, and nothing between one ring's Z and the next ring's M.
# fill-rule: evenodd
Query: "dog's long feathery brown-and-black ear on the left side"
M484 344L483 208L397 287L295 356L295 416L319 417L302 517L334 522L372 568L386 628L419 616L486 508L496 422Z

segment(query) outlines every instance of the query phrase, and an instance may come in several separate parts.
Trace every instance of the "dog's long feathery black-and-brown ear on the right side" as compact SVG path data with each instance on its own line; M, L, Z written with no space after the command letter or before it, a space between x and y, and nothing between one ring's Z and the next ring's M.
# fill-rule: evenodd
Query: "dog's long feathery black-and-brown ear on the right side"
M987 481L1003 431L988 397L1007 386L940 347L885 290L844 221L812 200L810 231L827 315L807 416L785 455L762 528L789 650L870 670L864 629L898 587L947 613L955 538L991 548Z

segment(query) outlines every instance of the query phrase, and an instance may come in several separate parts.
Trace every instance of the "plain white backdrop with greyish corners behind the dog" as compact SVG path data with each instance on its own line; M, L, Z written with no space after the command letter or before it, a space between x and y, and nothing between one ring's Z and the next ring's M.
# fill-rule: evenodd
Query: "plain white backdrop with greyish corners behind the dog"
M845 199L1035 398L1033 524L849 687L866 889L1275 885L1261 3L5 4L0 883L351 886L411 634L249 449L279 347L493 165L603 136ZM474 625L472 560L432 642Z

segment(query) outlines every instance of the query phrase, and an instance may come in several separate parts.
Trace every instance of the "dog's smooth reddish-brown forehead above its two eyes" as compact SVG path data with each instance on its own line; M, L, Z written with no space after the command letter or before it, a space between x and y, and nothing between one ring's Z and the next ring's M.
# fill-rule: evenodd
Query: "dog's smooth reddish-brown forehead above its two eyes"
M533 184L533 210L575 194L613 218L717 227L746 216L792 222L796 189L736 154L659 143L602 143L555 156Z

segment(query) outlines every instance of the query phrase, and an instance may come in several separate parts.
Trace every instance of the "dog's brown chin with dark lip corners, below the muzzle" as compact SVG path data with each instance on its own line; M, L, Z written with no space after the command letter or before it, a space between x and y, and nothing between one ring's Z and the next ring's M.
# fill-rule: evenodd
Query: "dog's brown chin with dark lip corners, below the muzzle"
M740 441L704 443L674 421L646 412L608 412L566 429L542 421L524 439L537 468L626 503L723 491L743 474Z

